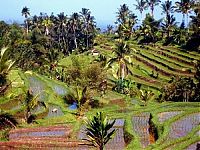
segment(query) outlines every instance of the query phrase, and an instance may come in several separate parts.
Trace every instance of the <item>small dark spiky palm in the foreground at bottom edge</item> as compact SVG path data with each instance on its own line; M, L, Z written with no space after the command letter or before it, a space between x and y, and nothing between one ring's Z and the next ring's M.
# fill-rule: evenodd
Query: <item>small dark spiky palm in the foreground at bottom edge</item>
M114 123L115 120L108 121L102 112L97 113L96 116L86 121L85 132L88 139L85 140L98 147L99 150L103 150L116 131L116 129L112 129Z

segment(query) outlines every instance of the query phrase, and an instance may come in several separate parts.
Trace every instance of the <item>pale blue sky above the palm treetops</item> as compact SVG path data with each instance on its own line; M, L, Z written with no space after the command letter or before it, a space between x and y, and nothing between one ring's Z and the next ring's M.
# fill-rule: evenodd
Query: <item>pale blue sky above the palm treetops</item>
M127 4L129 9L140 19L140 14L138 10L135 10L134 3L136 3L135 0L1 0L0 20L8 23L22 23L24 17L21 15L21 10L25 6L30 9L32 16L39 15L40 12L48 15L52 12L55 15L64 12L71 15L73 12L80 12L82 8L88 8L95 17L97 26L104 28L108 24L114 24L116 12L122 4ZM164 17L161 15L160 6L155 8L154 14L156 19ZM175 16L180 22L182 15L176 14Z

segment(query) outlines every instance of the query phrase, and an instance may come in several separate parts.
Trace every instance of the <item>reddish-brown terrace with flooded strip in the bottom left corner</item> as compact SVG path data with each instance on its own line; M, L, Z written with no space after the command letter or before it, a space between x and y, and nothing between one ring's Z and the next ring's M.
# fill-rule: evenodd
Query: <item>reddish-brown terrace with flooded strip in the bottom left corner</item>
M70 126L48 126L14 129L9 132L9 141L0 142L0 149L90 149L82 141L70 141Z

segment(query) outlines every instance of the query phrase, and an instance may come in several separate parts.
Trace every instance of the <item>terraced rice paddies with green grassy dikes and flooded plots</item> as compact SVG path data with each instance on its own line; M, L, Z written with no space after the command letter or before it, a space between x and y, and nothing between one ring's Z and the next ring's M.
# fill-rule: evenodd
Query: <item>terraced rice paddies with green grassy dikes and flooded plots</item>
M94 49L111 58L115 42L105 38ZM173 76L193 78L193 62L200 61L198 53L183 51L173 46L140 46L132 41L129 41L129 44L133 62L133 74L129 75L129 79L135 84L141 84L142 89L151 89L155 94L158 94ZM95 59L93 57L98 56L91 56ZM152 72L158 74L158 77L150 76ZM111 120L117 119L113 127L117 129L117 133L106 149L194 150L197 143L200 143L199 102L159 103L154 99L143 102L108 88L103 97L93 95L102 103L101 107L91 108L85 112L84 117L77 118L74 115L76 109L71 109L63 99L70 89L66 83L34 71L24 73L19 69L12 70L9 78L11 81L15 80L4 99L0 98L0 109L13 114L20 125L9 131L8 141L0 142L0 149L93 149L83 145L81 137L85 135L81 130L84 118L99 111ZM26 124L22 119L24 105L20 94L23 93L23 86L29 87L33 95L37 95L38 99L47 104L46 109L38 107L33 111L36 114L33 124ZM17 95L19 97L13 99ZM53 112L53 109L57 111ZM3 132L0 136L2 135Z

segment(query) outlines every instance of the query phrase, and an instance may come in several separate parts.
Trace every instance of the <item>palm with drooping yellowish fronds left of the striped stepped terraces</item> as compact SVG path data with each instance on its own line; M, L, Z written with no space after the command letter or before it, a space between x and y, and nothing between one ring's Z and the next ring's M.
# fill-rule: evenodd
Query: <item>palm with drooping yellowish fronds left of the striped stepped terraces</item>
M125 75L131 73L128 67L128 65L132 65L130 57L128 56L128 54L130 54L129 45L127 45L127 43L124 41L120 41L113 53L115 53L116 56L108 61L108 67L110 67L114 62L117 62L119 65L117 74L118 77L123 81Z

